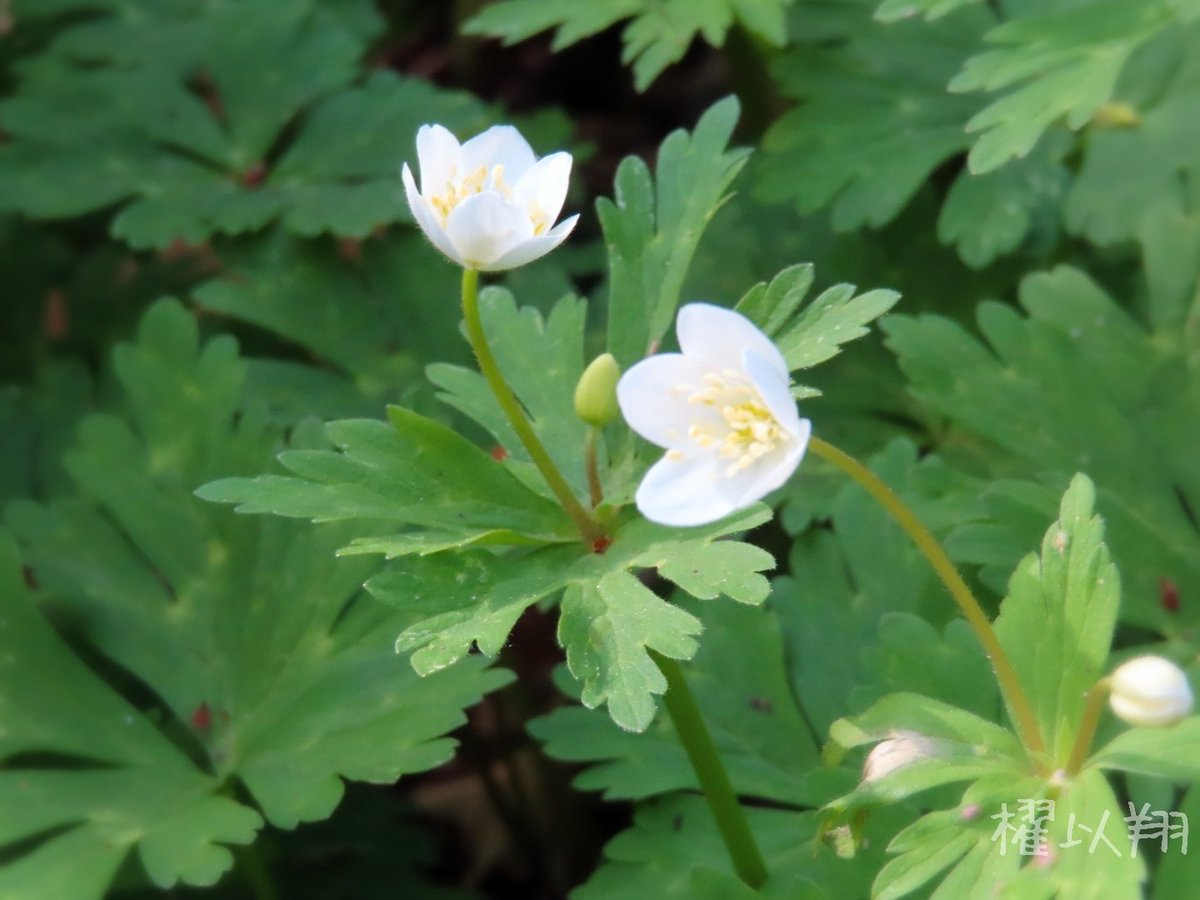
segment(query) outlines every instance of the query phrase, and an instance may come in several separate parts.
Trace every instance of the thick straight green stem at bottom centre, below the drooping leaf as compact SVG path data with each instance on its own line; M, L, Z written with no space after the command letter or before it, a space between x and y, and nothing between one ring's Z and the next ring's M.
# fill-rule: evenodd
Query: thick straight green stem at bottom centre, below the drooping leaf
M716 752L716 744L708 733L708 726L704 725L683 670L673 659L653 652L650 655L667 679L667 692L662 697L662 703L671 714L671 722L679 736L679 743L688 754L691 768L704 792L704 799L708 800L708 809L716 820L716 828L725 841L733 869L742 881L758 889L767 881L767 864L762 859L754 832L750 830L750 823L742 810L742 804L738 803L738 796L733 792L733 785L725 772L721 757Z

